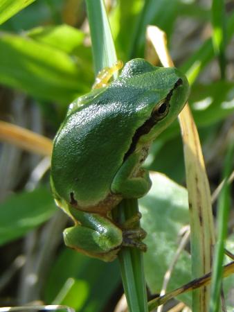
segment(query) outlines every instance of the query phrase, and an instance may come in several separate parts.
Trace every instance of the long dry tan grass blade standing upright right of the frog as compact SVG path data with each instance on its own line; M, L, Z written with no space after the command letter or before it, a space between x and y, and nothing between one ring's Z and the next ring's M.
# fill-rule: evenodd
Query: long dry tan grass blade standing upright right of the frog
M148 26L147 38L159 55L164 67L174 64L166 46L166 37L156 26ZM215 230L213 225L210 188L201 152L197 127L188 103L179 115L183 152L186 164L186 183L190 208L192 277L205 275L211 269ZM192 311L206 312L209 304L209 289L199 288L192 294Z

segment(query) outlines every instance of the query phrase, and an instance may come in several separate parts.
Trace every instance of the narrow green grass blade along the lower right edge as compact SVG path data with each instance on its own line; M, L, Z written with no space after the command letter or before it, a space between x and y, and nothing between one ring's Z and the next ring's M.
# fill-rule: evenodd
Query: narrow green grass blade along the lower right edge
M211 279L211 295L210 295L210 312L219 311L220 291L222 286L222 263L224 260L224 244L228 232L229 208L231 205L230 191L231 187L228 183L228 177L231 174L231 168L234 157L234 143L228 148L224 167L224 187L220 193L217 210L218 210L218 237L215 248L215 261L213 266L213 275Z

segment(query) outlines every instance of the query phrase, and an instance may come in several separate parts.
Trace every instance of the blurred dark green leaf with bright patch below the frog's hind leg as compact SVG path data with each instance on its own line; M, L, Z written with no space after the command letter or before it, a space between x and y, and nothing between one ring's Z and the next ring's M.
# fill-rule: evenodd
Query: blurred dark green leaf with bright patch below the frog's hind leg
M69 286L70 278L78 283ZM58 303L58 295L62 298L64 292L66 304L79 306L77 311L100 312L110 300L118 284L120 284L120 273L117 261L105 263L64 248L48 275L44 297L47 303ZM73 287L80 287L82 300L78 295L72 297L71 294L75 289Z

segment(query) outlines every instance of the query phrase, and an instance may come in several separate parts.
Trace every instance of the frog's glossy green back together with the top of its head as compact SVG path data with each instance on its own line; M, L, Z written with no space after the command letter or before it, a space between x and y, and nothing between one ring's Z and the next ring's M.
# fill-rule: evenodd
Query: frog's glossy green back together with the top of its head
M68 114L55 137L51 164L60 197L89 211L108 210L121 199L111 193L111 183L129 155L132 138L177 82L174 69L156 70L156 78L154 72L134 77L126 71Z

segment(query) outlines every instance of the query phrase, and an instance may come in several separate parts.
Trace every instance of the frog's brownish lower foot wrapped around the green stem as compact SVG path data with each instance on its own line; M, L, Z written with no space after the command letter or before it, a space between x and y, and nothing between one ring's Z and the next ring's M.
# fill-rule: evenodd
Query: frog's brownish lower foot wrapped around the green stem
M136 247L141 251L146 252L147 245L145 245L142 240L145 239L147 233L138 225L140 219L141 213L138 212L121 225L123 231L122 245L125 247Z

